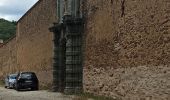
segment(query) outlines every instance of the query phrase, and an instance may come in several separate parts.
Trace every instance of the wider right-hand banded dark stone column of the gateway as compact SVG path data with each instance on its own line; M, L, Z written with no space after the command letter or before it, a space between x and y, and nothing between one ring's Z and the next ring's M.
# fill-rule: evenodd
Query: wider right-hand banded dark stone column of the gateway
M66 28L66 86L65 93L82 92L82 19L64 16Z

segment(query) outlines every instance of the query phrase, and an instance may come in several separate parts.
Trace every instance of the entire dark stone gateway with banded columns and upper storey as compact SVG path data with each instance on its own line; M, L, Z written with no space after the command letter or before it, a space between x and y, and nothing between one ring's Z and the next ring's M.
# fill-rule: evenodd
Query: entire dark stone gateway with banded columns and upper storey
M80 0L58 0L54 33L53 89L67 94L82 92L82 31Z

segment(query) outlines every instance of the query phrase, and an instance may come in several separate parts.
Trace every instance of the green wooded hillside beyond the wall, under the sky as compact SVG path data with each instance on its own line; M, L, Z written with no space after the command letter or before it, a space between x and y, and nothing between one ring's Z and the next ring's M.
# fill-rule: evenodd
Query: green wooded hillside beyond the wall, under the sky
M5 19L0 19L0 39L6 41L10 37L14 36L15 33L16 33L15 21L10 22Z

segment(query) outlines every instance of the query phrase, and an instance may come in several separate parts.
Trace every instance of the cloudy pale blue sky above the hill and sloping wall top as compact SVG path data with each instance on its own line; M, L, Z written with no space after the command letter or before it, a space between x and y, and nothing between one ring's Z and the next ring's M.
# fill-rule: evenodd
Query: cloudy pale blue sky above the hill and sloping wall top
M17 21L37 1L38 0L0 0L0 18Z

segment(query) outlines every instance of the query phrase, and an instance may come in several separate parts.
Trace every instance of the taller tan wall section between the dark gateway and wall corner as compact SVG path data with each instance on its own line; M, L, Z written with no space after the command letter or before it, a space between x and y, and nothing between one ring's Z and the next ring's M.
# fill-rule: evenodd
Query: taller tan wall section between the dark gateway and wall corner
M52 83L53 33L56 0L40 0L17 24L17 67L34 71L40 85Z

